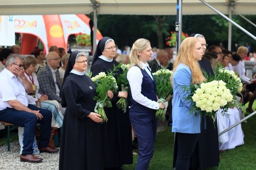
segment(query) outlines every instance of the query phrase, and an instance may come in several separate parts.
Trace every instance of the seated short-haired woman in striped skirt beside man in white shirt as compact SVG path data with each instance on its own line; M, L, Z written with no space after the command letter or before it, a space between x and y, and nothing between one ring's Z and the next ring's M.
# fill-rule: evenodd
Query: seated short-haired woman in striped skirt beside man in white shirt
M38 93L39 84L37 81L37 76L34 73L37 63L37 59L32 56L27 56L23 60L25 76L32 83L34 89L33 94L27 94L29 104L35 105L35 102L40 99L42 108L48 109L53 113L52 127L61 128L63 124L63 114L61 112L60 104L56 100L48 100L47 95L41 95Z

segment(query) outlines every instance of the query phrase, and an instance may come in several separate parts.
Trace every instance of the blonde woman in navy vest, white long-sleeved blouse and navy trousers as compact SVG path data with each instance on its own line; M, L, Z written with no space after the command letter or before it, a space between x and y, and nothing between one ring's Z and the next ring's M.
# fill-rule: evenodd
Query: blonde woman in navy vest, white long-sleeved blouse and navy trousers
M150 41L140 38L134 42L130 51L128 81L131 90L130 121L137 135L139 157L135 170L148 170L154 154L158 119L156 111L164 109L157 102L156 81L146 61L153 54Z

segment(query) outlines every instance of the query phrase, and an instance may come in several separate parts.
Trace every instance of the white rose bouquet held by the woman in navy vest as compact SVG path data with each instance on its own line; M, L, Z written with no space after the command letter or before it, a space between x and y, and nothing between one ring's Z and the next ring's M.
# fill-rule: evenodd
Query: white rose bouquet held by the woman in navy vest
M157 85L157 96L158 96L158 103L161 102L164 104L166 102L166 98L173 94L173 89L171 85L171 74L172 71L168 69L160 69L157 72L153 73L155 79L156 79L156 85ZM164 109L159 109L156 113L156 117L160 120L164 120Z

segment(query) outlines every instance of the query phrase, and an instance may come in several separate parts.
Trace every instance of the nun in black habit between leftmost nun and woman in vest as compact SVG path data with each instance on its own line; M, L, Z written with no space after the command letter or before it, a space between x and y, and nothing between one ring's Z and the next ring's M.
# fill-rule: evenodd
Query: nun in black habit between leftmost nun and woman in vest
M97 45L93 58L91 72L92 77L100 72L111 72L114 65L119 63L113 58L116 55L117 46L113 39L103 37ZM114 77L122 74L122 69L114 72ZM103 163L104 168L120 168L125 164L132 164L132 140L131 140L131 123L129 113L123 113L116 106L120 97L127 98L126 91L118 91L114 93L112 98L112 108L104 108L107 122L100 124L102 147L103 147Z

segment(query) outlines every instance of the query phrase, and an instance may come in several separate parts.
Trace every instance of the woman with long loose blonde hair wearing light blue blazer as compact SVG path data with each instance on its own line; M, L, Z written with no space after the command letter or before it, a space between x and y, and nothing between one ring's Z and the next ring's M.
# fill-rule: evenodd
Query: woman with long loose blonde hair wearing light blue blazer
M202 57L200 41L195 37L188 37L181 43L173 66L172 132L176 133L178 144L174 165L176 170L189 170L190 158L201 132L201 115L191 113L192 102L186 98L191 93L191 85L198 85L206 80L198 63Z

